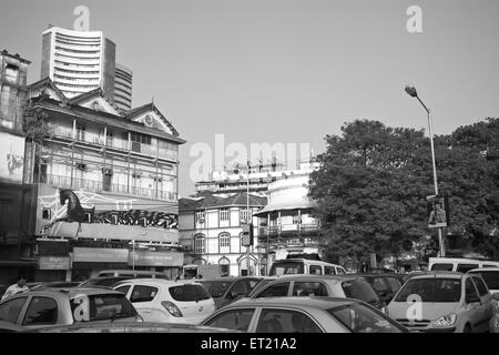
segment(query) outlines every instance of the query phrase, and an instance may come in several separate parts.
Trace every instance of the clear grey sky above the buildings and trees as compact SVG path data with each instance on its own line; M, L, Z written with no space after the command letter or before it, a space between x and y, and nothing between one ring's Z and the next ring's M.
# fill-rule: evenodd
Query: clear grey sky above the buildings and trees
M436 134L499 116L497 0L0 0L0 50L32 61L40 79L41 32L72 29L77 6L92 30L116 43L133 70L133 104L154 97L187 144L181 146L180 193L193 143L310 143L344 122L374 119ZM410 6L422 33L409 33Z

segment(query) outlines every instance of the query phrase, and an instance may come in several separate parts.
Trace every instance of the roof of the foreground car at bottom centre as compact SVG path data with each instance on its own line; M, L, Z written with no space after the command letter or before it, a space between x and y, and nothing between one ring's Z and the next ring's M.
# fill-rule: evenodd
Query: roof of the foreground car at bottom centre
M226 307L247 307L247 306L294 306L299 308L310 307L329 310L333 307L340 307L354 303L360 303L359 300L340 298L340 297L263 297L263 298L242 298L236 303L230 304Z

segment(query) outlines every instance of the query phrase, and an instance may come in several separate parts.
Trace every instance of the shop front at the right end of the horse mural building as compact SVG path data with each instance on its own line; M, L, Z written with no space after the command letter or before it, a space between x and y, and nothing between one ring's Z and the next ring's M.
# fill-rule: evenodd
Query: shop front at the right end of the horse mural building
M128 267L165 273L170 280L175 280L182 272L184 254L179 252L130 251Z

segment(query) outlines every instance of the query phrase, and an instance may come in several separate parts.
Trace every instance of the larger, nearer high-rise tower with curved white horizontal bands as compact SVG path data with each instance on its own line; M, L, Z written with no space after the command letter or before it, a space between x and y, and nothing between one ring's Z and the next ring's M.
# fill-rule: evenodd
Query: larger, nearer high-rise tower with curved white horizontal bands
M50 78L68 98L101 88L113 100L115 55L102 31L52 27L42 34L41 79Z

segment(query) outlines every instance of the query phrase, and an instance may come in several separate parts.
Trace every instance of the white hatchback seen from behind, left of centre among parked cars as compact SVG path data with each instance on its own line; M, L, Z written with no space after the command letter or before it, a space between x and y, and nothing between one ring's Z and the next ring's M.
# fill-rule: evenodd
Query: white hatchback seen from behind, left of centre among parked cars
M192 281L132 278L113 288L126 295L144 322L197 324L215 312L212 296Z

